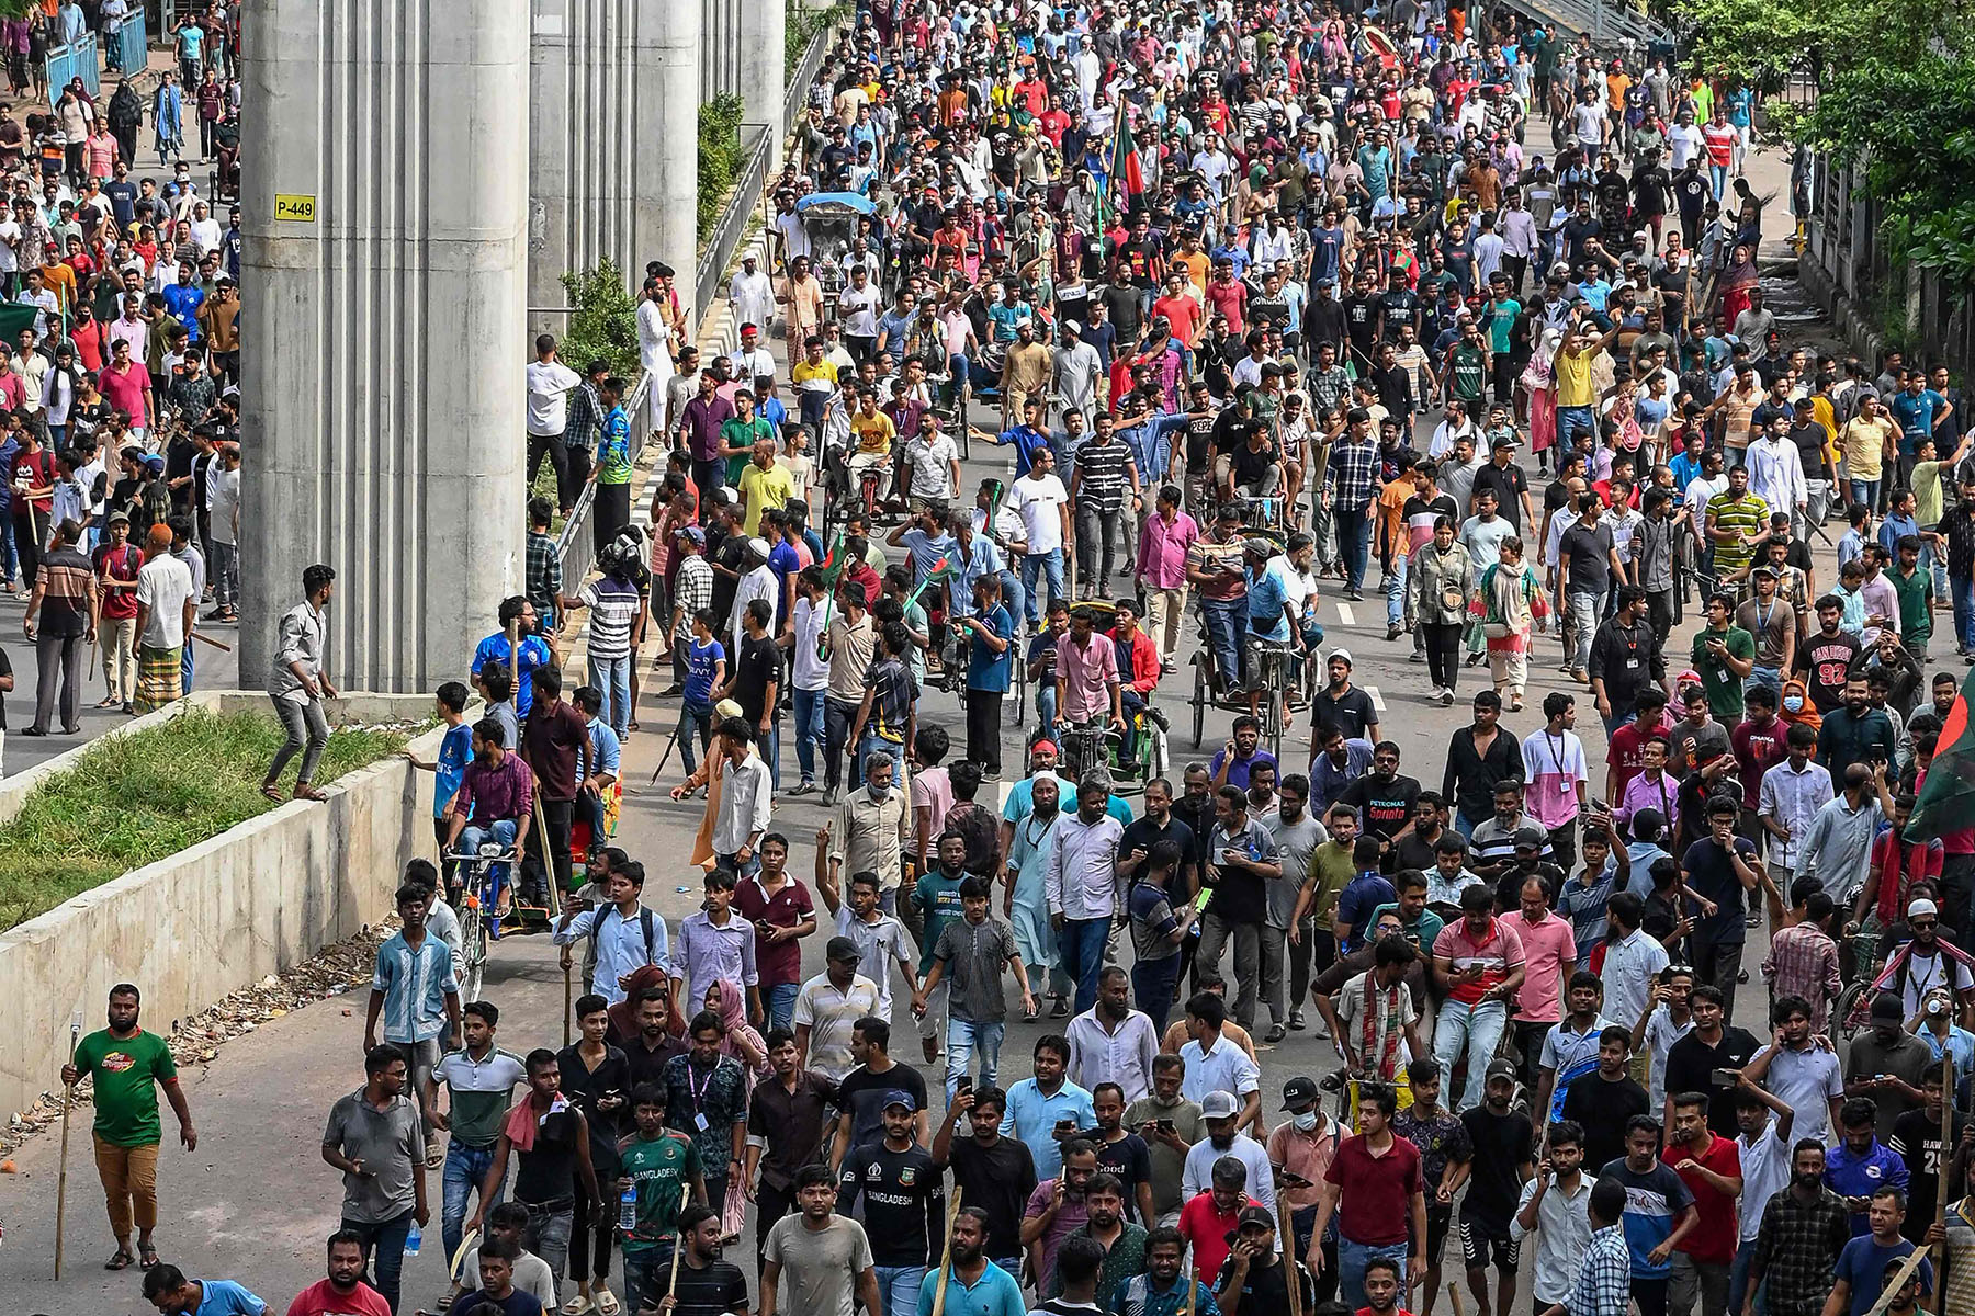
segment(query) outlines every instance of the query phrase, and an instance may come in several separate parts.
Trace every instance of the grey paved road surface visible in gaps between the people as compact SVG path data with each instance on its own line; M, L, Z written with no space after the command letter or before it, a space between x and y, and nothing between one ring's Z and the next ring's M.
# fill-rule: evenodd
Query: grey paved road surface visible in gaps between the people
M1762 170L1779 174L1772 162L1764 162ZM1778 180L1764 178L1762 172L1758 172L1756 182L1762 189L1779 185ZM1779 215L1781 207L1772 207L1772 211L1778 211L1778 223L1787 223ZM1783 237L1783 231L1774 237ZM976 452L988 456L984 448L976 448ZM968 472L970 479L997 474L986 462L972 466L978 470ZM1829 572L1831 554L1823 547L1819 552L1819 570ZM1323 625L1329 631L1329 643L1345 645L1357 655L1355 679L1377 693L1377 700L1382 704L1384 734L1400 744L1404 756L1402 771L1438 785L1448 732L1463 716L1460 706L1444 710L1426 700L1426 669L1408 661L1410 645L1406 641L1384 641L1384 618L1375 596L1367 596L1365 604L1345 612L1337 602L1335 588L1327 588ZM18 604L0 602L0 635L6 633L18 633ZM1675 649L1685 653L1687 643L1691 643L1691 623L1675 641ZM1945 643L1939 641L1939 645ZM10 645L12 651L16 645ZM1580 706L1586 702L1580 687L1572 687L1556 675L1554 655L1554 641L1546 641L1531 661L1531 712L1507 718L1507 726L1517 736L1539 726L1540 714L1535 712L1535 706L1540 704L1546 689L1570 689L1580 695ZM16 667L20 667L18 657ZM1185 677L1185 669L1179 675ZM1477 675L1475 671L1463 673L1463 696L1479 689L1473 679ZM1175 689L1159 693L1159 706L1167 710L1175 728L1187 724L1183 695L1185 691L1177 689L1177 683ZM942 700L944 696L934 696L932 708L944 712ZM14 706L22 706L20 696L14 698ZM101 720L89 722L89 726L99 724ZM954 714L950 726L956 736L958 724L960 718ZM1213 750L1226 734L1226 724L1228 714L1219 714L1211 722L1207 750ZM646 888L648 904L675 925L697 906L697 870L681 872L664 856L685 852L697 827L699 809L697 805L672 803L664 795L664 785L677 779L677 764L658 787L648 785L672 728L664 712L654 706L646 708L644 728L632 736L628 752L626 775L632 787L624 803L618 841L634 856L644 858L652 872ZM1594 773L1598 773L1604 760L1604 738L1598 718L1590 716L1588 708L1580 718L1578 732L1584 738ZM1307 762L1305 736L1307 724L1300 722L1294 736L1296 748L1286 748L1286 758L1296 768ZM1003 744L1009 764L1017 762L1013 726L1007 728ZM794 752L792 748L784 752L790 754L792 769ZM1185 766L1189 758L1185 742L1175 744L1175 769ZM796 846L792 868L802 874L808 874L812 837L824 817L816 795L784 799L776 807L776 827L788 833ZM822 969L820 937L812 937L806 945L804 963L808 973ZM504 1046L525 1052L533 1046L561 1044L561 973L555 967L553 949L543 939L500 943L490 965L486 996L502 1006L500 1042ZM336 1225L340 1184L338 1176L320 1162L318 1144L328 1107L361 1083L361 1006L363 996L357 990L273 1020L227 1044L211 1065L188 1073L186 1085L199 1127L199 1148L196 1154L186 1154L174 1144L166 1146L162 1156L160 1184L166 1223L160 1229L160 1247L168 1261L182 1265L192 1275L241 1279L276 1310L284 1308L296 1290L320 1279L320 1247ZM1738 1006L1744 1022L1760 1016L1764 1010L1760 983L1742 988ZM168 1020L150 1022L164 1026ZM905 1044L897 1050L901 1060L916 1061L916 1044L910 1032L910 1028L901 1028ZM1045 1024L1011 1024L1003 1050L1003 1081L1027 1075L1027 1056L1041 1032L1045 1032ZM1276 1117L1280 1105L1276 1093L1286 1077L1335 1067L1329 1044L1319 1042L1313 1032L1290 1034L1284 1044L1264 1048L1262 1087L1268 1117ZM49 1077L53 1081L53 1075ZM934 1077L936 1085L936 1075L928 1071L928 1077ZM57 1140L43 1134L16 1154L18 1176L0 1176L0 1227L6 1229L6 1245L0 1249L0 1290L8 1294L8 1308L18 1312L97 1316L105 1310L142 1310L134 1271L115 1277L101 1271L101 1263L111 1251L111 1239L103 1225L101 1198L89 1164L87 1131L81 1121L75 1133L77 1146L71 1148L69 1156L73 1170L67 1231L69 1277L59 1288L51 1282ZM434 1180L434 1209L436 1200ZM433 1237L436 1241L436 1227ZM752 1267L743 1265L743 1269ZM407 1265L405 1294L409 1302L431 1304L440 1292L442 1263L436 1259L436 1247L429 1247L423 1257Z

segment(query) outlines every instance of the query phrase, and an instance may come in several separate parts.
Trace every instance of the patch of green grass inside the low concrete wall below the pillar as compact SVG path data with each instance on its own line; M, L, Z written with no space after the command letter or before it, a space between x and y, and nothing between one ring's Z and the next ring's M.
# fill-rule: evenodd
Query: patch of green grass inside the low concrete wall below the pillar
M275 809L261 775L282 740L271 714L194 708L89 746L0 827L0 929ZM316 785L397 754L405 740L330 732Z

